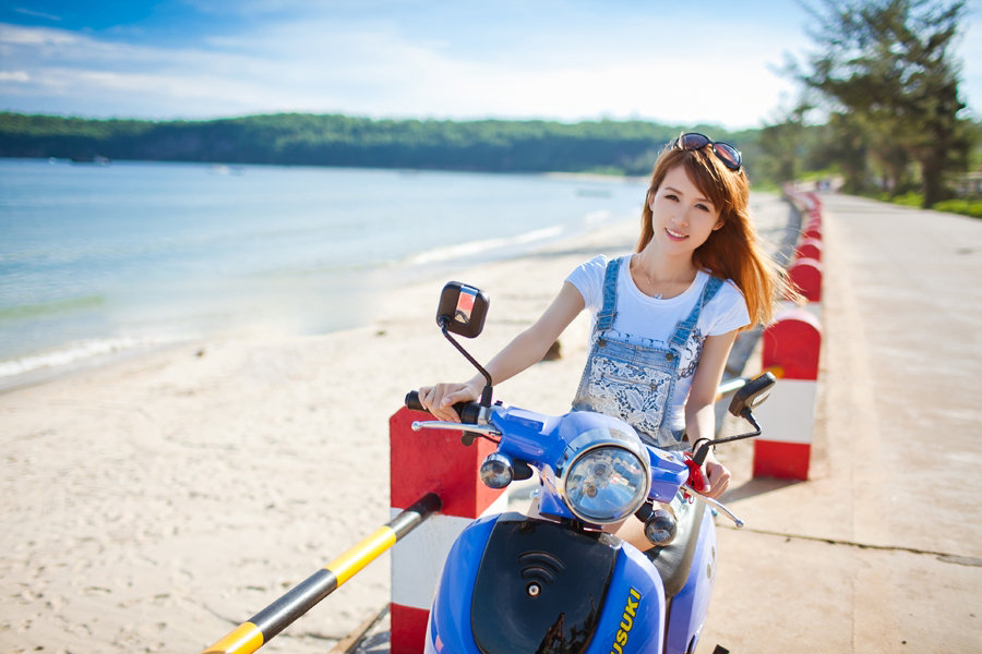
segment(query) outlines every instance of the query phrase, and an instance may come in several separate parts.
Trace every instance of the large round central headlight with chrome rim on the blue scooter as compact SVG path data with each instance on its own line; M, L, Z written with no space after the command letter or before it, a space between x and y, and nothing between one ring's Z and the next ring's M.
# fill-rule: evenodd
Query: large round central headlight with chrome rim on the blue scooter
M634 513L648 496L650 479L640 457L606 444L576 455L563 477L570 510L585 522L609 524Z

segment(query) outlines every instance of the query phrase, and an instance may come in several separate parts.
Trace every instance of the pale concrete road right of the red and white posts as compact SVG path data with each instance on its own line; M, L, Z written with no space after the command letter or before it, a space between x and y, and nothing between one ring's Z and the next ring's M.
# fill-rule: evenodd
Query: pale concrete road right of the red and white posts
M719 448L746 526L699 652L982 652L982 220L822 201L810 480Z

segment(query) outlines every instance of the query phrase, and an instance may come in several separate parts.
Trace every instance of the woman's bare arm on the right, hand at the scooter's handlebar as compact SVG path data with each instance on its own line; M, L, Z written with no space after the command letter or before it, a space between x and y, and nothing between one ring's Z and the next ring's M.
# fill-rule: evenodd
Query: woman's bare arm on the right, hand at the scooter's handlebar
M703 353L685 401L685 433L692 444L699 438L712 438L716 434L716 393L735 340L734 329L718 336L707 336L703 342ZM706 474L709 477L707 495L722 495L730 484L730 471L716 460L711 451L706 457Z

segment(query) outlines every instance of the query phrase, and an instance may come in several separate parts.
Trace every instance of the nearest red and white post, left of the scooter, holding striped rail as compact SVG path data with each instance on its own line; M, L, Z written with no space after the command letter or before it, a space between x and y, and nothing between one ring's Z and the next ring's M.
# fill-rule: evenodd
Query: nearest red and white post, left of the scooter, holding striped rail
M393 514L427 493L440 496L443 508L392 550L391 654L423 651L430 605L441 570L457 535L489 510L504 510L503 491L484 486L477 471L494 445L478 438L460 443L460 432L422 429L414 421L429 413L400 409L388 419L390 497Z

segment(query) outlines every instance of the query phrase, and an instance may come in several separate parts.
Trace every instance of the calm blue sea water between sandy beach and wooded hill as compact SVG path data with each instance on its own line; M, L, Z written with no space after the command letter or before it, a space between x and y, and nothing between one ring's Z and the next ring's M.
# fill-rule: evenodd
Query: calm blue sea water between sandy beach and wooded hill
M0 388L223 329L364 325L380 289L636 219L644 191L615 178L0 159Z

